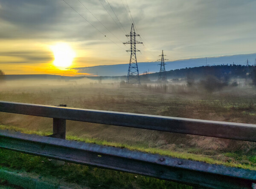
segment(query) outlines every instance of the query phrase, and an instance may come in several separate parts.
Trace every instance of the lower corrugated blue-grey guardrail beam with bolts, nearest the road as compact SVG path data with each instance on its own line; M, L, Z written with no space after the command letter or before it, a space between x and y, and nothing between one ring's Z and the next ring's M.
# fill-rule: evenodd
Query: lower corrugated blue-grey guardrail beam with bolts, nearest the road
M256 171L0 130L0 148L210 188L251 188Z

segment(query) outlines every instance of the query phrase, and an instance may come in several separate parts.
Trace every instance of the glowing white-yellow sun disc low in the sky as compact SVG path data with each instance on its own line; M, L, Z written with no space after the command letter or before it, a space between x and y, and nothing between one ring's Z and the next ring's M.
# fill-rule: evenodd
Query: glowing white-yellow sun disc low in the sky
M56 67L67 68L72 65L76 53L69 45L66 43L58 43L57 45L51 46L51 50L54 54L53 64Z

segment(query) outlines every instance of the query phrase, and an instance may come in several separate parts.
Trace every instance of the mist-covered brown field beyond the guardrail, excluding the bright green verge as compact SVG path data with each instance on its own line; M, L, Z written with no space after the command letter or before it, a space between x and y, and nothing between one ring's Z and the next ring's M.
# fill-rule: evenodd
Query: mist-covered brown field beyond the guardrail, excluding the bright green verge
M233 78L228 83L214 77L208 78L196 79L193 84L189 83L189 78L180 78L170 79L167 84L143 82L137 86L127 86L121 79L7 80L0 83L0 96L1 100L11 102L67 104L67 107L94 110L255 123L256 89L252 80L235 79L234 85ZM0 115L0 124L3 125L37 132L52 130L50 118L9 113ZM195 148L202 155L205 155L204 150L219 155L223 153L218 150L248 152L255 147L254 143L241 141L75 121L67 121L67 135L187 153L192 153L189 149ZM211 157L222 160L223 157L219 158L218 155Z

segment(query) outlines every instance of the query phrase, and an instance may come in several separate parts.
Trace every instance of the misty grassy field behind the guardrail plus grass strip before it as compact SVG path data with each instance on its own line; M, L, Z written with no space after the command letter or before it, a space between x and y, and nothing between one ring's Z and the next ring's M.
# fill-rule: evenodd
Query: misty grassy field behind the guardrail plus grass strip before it
M95 110L256 124L256 90L250 85L244 87L228 86L209 93L198 86L187 87L183 83L169 84L168 86L151 84L129 88L120 86L118 82L104 85L92 82L87 84L82 82L78 84L50 83L51 85L45 83L37 85L36 82L32 82L26 87L6 83L4 87L0 88L0 100L47 105L67 104L68 107ZM2 124L0 129L16 130L23 133L46 135L52 131L51 118L0 113L0 124ZM253 142L77 121L67 121L67 139L256 170L256 144ZM50 166L48 167L47 164L40 164L38 165L39 168L36 165L38 161L44 161L42 158L34 158L35 156L17 152L8 153L6 150L0 152L0 165L2 166L37 172L38 174L51 172ZM19 157L20 161L24 163L19 164L11 156ZM35 160L37 158L39 160ZM26 161L32 162L32 165L26 165ZM67 169L66 166L58 169L65 170ZM97 188L98 185L101 185L99 184L100 180L105 183L105 188L108 188L109 185L106 183L111 181L113 183L109 186L112 188L144 188L144 186L147 186L145 188L170 188L170 184L172 184L171 188L189 187L137 175L135 179L134 175L127 173L73 164L69 164L69 166L73 167L71 172L63 171L65 174L60 175L51 173L52 176L60 176L65 180L70 179L72 181L72 176L69 177L68 175L82 175L81 172L83 172L84 176L91 175L83 183L91 188ZM100 170L99 174L102 175L97 175L95 170ZM84 180L83 176L79 177ZM101 179L97 180L97 178ZM105 181L105 178L108 181ZM137 181L138 178L140 181ZM124 181L127 183L122 183ZM136 184L134 185L135 181ZM76 182L80 183L81 181Z

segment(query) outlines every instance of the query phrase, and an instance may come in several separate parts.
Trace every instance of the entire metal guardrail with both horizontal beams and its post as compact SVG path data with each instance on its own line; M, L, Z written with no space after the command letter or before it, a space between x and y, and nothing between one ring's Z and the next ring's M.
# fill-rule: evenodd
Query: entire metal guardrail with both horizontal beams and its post
M253 188L256 171L67 141L66 119L150 130L256 141L256 126L166 116L0 101L0 112L53 118L53 137L0 131L0 148L209 188ZM58 133L59 132L59 133ZM60 134L61 133L61 134Z

